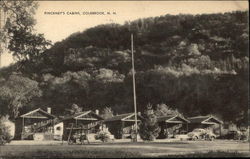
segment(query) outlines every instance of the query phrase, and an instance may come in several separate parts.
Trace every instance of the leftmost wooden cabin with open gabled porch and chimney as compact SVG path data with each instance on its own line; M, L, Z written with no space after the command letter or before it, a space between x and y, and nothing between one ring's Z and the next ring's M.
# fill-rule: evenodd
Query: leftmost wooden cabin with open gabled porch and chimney
M50 108L48 108L47 112L38 108L20 115L15 121L15 139L34 139L36 133L40 133L47 138L53 138L54 119L55 116L51 114ZM51 123L52 126L43 127L48 123Z

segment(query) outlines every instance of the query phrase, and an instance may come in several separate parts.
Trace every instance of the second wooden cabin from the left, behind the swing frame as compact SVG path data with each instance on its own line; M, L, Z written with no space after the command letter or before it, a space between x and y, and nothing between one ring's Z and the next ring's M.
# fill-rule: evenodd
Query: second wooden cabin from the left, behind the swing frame
M69 135L73 133L95 134L102 129L103 120L101 116L92 111L84 111L64 117L61 120L63 123L62 138L67 140Z

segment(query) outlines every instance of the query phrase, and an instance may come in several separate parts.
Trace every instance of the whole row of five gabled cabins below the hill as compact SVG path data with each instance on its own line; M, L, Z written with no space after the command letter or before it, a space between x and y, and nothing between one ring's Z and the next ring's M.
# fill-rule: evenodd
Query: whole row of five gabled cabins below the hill
M143 117L138 114L138 123ZM176 134L192 131L195 128L212 129L214 133L221 133L222 121L214 116L197 116L184 118L183 116L158 117L161 132L158 138L169 138ZM67 140L71 133L95 134L100 129L108 130L116 139L127 138L134 128L135 114L120 114L109 119L103 119L98 113L85 111L71 116L58 118L51 114L51 110L40 108L19 116L15 122L15 139L35 140Z

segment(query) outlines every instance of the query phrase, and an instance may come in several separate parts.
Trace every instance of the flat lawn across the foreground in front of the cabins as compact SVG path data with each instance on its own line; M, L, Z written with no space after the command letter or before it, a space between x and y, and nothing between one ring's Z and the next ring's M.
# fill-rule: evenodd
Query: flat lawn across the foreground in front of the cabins
M247 145L248 143L222 141L97 143L90 145L6 145L0 147L0 159L247 157L249 156Z

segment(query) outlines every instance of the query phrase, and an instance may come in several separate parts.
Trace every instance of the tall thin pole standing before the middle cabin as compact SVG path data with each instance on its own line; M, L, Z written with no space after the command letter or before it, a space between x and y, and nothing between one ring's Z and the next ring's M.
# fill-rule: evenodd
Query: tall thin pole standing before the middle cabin
M137 108L136 108L136 92L135 92L135 64L134 64L134 38L131 34L131 53L132 53L132 77L133 77L133 95L134 95L134 111L135 111L135 142L137 142Z

